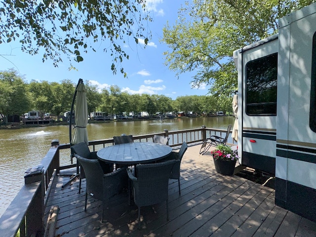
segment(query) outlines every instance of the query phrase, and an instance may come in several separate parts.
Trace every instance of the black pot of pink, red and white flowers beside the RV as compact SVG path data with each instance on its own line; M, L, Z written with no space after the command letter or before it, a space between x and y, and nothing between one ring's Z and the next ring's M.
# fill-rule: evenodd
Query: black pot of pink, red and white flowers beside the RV
M224 175L233 175L237 161L237 151L231 147L220 144L211 152L215 169L218 173Z

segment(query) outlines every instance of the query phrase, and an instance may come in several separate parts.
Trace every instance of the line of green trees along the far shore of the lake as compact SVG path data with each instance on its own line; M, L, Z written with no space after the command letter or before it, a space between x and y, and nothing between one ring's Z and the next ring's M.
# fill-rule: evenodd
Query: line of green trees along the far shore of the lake
M84 81L88 112L105 112L119 115L122 112L147 111L184 113L215 113L216 111L232 112L232 97L218 98L211 95L178 96L175 100L165 95L128 94L117 85L101 92L88 81ZM76 89L69 79L60 82L36 81L27 83L23 76L13 69L0 71L0 114L4 116L23 115L36 110L56 116L71 110Z

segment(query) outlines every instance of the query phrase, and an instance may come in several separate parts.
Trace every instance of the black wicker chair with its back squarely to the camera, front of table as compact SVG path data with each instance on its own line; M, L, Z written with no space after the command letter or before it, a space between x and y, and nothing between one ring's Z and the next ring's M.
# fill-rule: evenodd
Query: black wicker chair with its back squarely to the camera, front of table
M171 169L176 160L167 160L165 162L152 164L136 165L137 177L127 169L128 177L132 182L134 202L138 206L138 228L140 229L140 208L142 206L153 205L166 200L167 220L168 213L168 180Z

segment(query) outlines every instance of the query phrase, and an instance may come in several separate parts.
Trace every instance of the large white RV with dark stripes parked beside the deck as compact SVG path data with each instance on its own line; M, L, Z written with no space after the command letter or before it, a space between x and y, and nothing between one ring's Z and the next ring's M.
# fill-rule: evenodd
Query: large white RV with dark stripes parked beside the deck
M277 205L316 221L316 3L234 52L238 155L276 176Z

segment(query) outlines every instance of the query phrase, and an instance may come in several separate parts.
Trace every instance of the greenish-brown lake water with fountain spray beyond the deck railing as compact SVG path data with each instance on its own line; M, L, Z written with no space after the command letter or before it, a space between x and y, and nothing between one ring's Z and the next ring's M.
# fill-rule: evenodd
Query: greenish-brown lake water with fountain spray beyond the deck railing
M226 129L228 124L234 124L234 120L234 117L212 117L89 123L87 131L89 141L92 141L120 136L122 133L144 135L163 132L164 129L177 131L200 128L202 125ZM24 185L24 172L40 164L54 139L58 139L60 144L69 143L69 126L0 130L0 216ZM61 165L69 164L69 160L70 153L61 158Z

